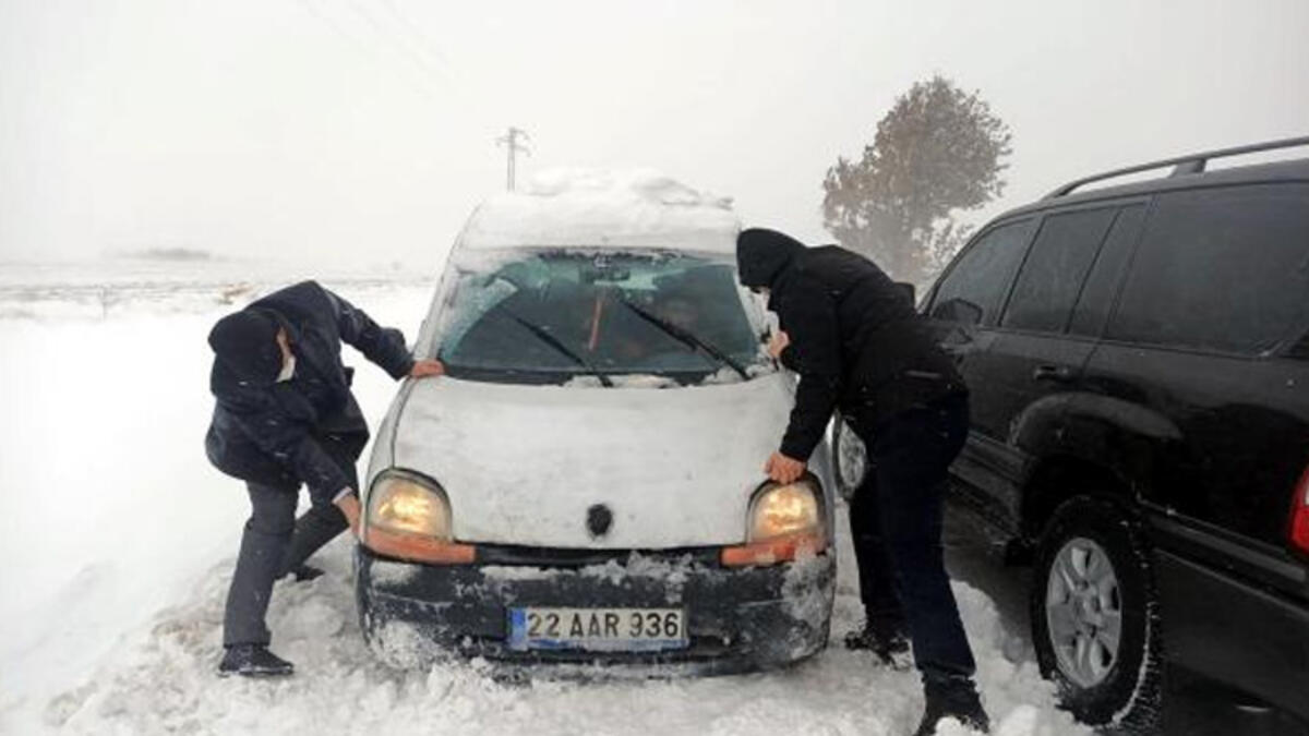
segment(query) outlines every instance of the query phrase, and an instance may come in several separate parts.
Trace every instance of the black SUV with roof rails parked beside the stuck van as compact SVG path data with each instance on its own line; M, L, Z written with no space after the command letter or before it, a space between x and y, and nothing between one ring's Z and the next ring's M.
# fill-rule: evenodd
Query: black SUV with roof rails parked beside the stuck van
M1033 563L1037 656L1084 722L1153 729L1166 661L1309 724L1309 158L1206 170L1302 145L1069 183L923 301L973 393L956 495Z

